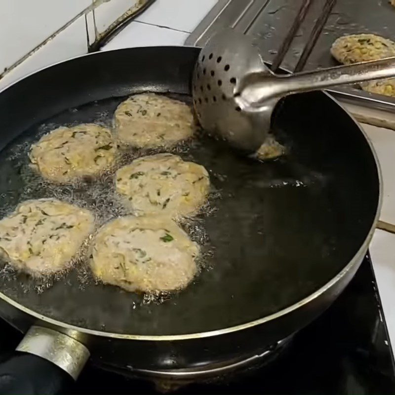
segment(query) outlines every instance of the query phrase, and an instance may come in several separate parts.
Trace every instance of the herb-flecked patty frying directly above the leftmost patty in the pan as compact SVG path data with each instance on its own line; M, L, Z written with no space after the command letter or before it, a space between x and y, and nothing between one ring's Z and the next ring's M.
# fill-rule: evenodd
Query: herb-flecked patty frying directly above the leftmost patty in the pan
M44 178L67 183L110 169L116 153L117 144L110 130L85 123L45 134L32 145L29 157Z

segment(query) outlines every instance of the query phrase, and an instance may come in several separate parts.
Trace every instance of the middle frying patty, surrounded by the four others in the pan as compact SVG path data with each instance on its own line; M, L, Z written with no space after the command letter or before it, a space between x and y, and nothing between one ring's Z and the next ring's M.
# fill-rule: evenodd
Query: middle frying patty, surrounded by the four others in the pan
M192 216L206 201L210 187L203 166L172 154L135 159L115 177L124 206L136 215Z

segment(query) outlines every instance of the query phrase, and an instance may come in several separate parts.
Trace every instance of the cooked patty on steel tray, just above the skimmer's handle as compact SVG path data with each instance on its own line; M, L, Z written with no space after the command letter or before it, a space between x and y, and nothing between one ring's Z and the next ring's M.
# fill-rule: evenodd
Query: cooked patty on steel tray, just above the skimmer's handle
M343 64L395 56L395 42L374 34L339 37L331 47L333 57Z

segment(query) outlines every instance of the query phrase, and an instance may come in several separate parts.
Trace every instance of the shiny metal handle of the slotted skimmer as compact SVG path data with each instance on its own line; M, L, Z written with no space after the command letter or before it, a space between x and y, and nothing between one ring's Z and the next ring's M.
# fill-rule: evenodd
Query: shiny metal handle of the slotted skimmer
M265 103L292 93L395 77L395 57L289 76L253 73L240 80L236 100L243 110L259 110Z

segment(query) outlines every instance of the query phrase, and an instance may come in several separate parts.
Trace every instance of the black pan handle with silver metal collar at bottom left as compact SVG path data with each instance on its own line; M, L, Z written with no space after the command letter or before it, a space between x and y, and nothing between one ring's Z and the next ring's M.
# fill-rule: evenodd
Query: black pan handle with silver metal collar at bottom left
M0 395L63 392L88 358L88 349L72 337L32 326L16 351L0 363Z

